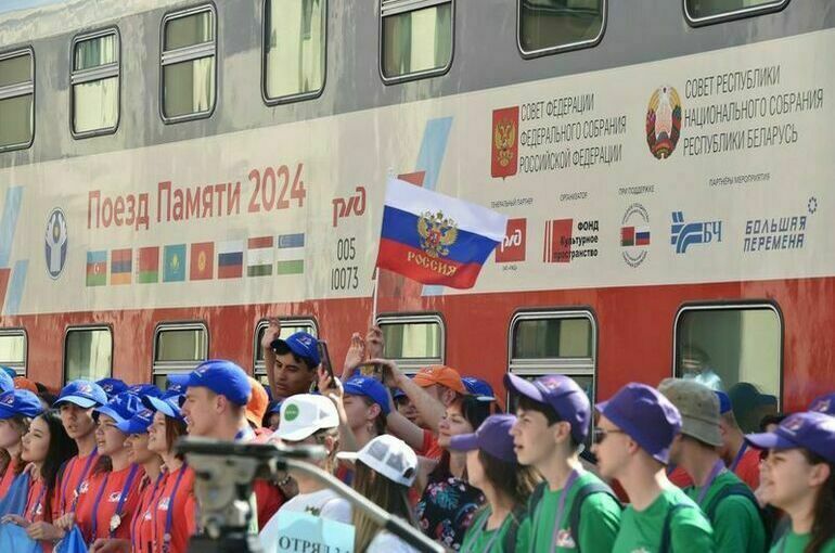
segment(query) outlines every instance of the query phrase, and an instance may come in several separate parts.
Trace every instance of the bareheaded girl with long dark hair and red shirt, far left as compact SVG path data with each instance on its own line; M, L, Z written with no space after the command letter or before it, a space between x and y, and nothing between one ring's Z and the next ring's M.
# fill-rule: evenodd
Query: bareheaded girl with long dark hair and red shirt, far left
M52 550L54 541L52 520L59 513L59 471L77 453L75 440L54 410L33 419L23 437L21 460L31 465L31 484L23 515L7 515L3 522L26 528L29 538L41 541L44 552Z

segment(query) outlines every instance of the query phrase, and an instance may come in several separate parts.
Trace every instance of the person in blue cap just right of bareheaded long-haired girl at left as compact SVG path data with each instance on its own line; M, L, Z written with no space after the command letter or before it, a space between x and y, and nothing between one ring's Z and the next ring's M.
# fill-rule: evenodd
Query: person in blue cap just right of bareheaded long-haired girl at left
M90 381L73 381L61 390L55 408L61 413L67 435L78 447L78 455L69 460L59 481L57 517L75 513L80 496L89 490L89 478L99 460L95 446L93 409L107 402L107 394ZM60 539L63 532L55 532Z

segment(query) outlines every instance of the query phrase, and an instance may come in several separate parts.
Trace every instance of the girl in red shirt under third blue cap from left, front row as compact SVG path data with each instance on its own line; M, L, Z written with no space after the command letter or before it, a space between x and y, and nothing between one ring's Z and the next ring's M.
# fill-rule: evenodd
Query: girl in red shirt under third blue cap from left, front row
M139 467L130 462L125 447L128 436L118 424L129 421L140 409L139 397L125 391L93 411L99 461L89 479L89 491L81 496L75 513L55 523L65 531L77 525L87 543L130 536L128 520L139 500Z

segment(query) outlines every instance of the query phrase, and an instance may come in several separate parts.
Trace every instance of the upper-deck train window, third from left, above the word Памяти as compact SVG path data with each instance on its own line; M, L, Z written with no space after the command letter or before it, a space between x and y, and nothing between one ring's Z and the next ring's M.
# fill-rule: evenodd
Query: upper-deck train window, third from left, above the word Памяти
M204 5L166 15L160 51L163 119L210 116L217 88L215 9Z

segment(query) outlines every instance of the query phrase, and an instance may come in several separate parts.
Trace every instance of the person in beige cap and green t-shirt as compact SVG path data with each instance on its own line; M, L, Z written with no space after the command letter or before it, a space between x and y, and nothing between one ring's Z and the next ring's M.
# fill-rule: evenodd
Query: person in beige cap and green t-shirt
M658 391L681 414L681 432L673 439L670 460L695 483L684 492L696 502L714 527L717 551L761 553L766 530L754 492L719 456L719 398L692 380L667 378Z

